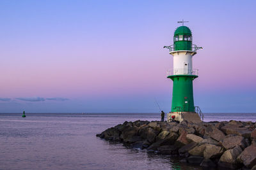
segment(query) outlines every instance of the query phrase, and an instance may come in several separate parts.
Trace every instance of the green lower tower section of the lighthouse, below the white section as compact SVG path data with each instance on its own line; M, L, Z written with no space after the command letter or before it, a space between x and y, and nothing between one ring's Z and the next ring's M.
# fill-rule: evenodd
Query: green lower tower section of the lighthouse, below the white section
M182 111L195 111L193 80L197 77L183 74L167 77L173 80L172 112L176 112L177 108L181 108Z

